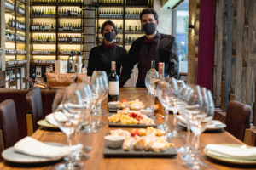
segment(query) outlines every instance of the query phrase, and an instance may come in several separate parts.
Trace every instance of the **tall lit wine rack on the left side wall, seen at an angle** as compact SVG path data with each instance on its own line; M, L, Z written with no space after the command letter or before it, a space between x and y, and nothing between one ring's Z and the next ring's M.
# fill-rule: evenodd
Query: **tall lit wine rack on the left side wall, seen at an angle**
M4 1L5 88L26 88L28 31L25 0Z

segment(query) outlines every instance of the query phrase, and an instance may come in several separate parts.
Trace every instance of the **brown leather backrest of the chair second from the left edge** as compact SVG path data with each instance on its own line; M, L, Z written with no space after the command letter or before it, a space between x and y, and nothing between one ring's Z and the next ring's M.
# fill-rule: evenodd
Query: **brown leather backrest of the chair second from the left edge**
M28 104L29 113L32 114L33 131L38 129L37 122L44 117L41 91L39 88L32 88L26 94L26 102Z

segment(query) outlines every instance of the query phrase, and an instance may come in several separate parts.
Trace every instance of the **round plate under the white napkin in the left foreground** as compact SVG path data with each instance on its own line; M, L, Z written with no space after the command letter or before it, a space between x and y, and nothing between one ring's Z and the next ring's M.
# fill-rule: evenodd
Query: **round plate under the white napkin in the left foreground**
M46 143L55 146L63 146L64 144L59 143ZM25 154L15 152L14 147L10 147L2 152L3 159L14 163L44 163L49 161L58 161L62 157L45 158L37 156L28 156Z

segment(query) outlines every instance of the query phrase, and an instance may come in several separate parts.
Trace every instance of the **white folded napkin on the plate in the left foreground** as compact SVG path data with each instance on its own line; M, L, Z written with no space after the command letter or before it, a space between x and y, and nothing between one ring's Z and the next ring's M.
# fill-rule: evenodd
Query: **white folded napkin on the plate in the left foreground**
M25 137L18 141L15 146L15 152L19 152L29 156L38 156L46 158L55 158L68 156L68 146L53 146L44 144L32 137ZM81 150L82 145L77 144L71 147L71 151Z

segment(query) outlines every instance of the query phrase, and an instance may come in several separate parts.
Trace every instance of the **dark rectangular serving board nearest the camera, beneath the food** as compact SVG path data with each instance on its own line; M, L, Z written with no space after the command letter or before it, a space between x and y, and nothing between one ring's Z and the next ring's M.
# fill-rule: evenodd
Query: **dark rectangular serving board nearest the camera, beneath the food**
M104 157L175 157L177 156L177 150L174 147L167 148L161 152L145 151L145 150L123 150L111 149L108 146L104 146Z

